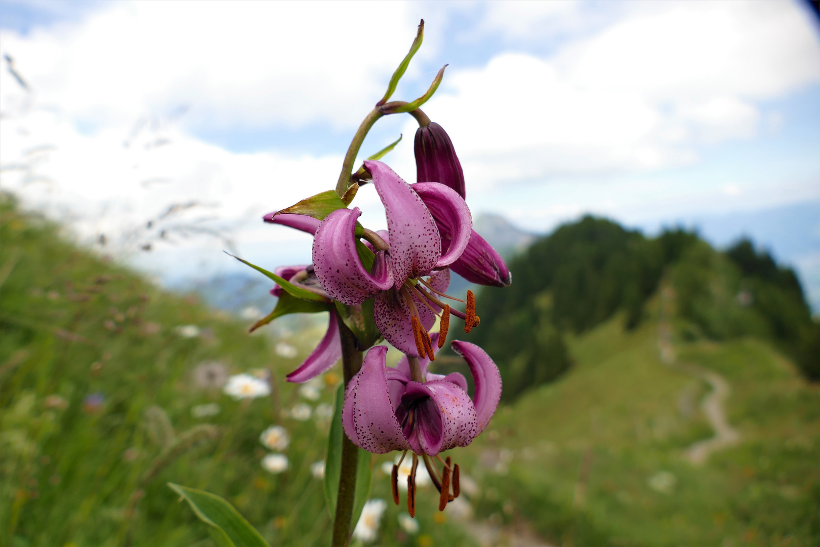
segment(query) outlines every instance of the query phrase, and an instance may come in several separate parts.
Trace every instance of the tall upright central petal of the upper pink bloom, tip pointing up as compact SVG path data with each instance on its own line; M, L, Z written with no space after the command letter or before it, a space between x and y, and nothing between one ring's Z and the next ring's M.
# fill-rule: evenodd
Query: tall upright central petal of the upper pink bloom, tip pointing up
M369 160L364 165L385 205L394 283L399 288L408 277L426 276L439 262L439 229L418 194L389 166Z

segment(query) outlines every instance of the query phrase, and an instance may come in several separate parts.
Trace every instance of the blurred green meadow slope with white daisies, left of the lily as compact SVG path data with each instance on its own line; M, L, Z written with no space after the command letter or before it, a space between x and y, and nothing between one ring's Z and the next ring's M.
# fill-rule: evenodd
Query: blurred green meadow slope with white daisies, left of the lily
M321 481L310 472L324 458L326 422L280 418L276 399L236 402L192 381L203 361L224 362L230 372L268 368L289 408L299 398L283 373L298 358L279 358L264 335L248 336L247 325L66 243L55 226L2 196L0 242L0 545L212 545L166 481L229 499L271 545L329 543ZM188 324L203 335L176 334L175 326ZM317 338L289 341L303 358ZM327 386L310 403L332 403L334 391ZM103 395L101 408L84 407L89 394ZM65 408L50 405L51 395ZM221 413L192 417L192 406L212 402ZM130 516L139 477L161 452L148 431L151 405L164 409L177 433L211 422L219 435L148 482ZM258 437L277 422L292 440L289 471L274 476L260 466L266 450ZM386 480L376 481L373 495L389 499ZM463 545L458 527L433 522L434 501L426 497L421 534L430 545ZM383 545L415 544L397 537L399 510L385 515Z

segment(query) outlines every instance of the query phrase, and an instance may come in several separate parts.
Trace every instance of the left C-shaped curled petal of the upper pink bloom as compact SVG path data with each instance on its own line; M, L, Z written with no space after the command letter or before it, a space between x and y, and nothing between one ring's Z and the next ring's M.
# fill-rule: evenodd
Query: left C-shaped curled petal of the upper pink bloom
M360 214L358 207L331 212L313 238L313 268L322 289L330 298L350 306L393 285L385 251L376 253L372 274L358 258L355 230Z

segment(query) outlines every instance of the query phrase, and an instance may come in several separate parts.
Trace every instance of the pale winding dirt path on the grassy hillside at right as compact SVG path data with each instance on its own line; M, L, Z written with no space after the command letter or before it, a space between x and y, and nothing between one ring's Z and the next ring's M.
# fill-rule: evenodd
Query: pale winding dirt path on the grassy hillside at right
M677 362L674 344L672 343L672 326L667 320L667 317L671 315L669 310L673 305L675 294L672 289L665 287L661 291L661 295L661 317L658 320L658 346L661 361L712 386L711 393L704 397L704 400L700 403L700 408L703 409L715 435L711 439L699 440L692 444L684 453L691 463L703 465L713 452L725 449L740 441L740 432L729 424L723 408L723 404L726 403L731 394L731 387L729 382L717 372L706 370L689 362Z

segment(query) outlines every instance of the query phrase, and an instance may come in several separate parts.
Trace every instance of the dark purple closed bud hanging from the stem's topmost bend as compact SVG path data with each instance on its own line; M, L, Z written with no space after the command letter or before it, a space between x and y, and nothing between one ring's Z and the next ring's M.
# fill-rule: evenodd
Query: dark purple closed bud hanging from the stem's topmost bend
M464 197L464 172L453 141L441 125L432 122L416 131L417 182L438 182Z

